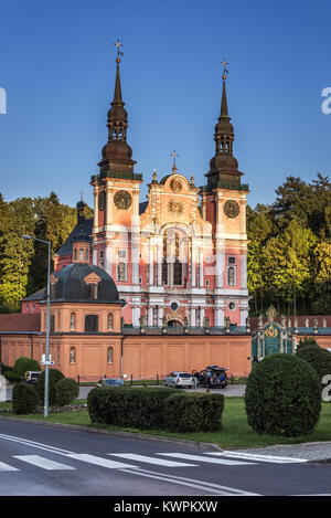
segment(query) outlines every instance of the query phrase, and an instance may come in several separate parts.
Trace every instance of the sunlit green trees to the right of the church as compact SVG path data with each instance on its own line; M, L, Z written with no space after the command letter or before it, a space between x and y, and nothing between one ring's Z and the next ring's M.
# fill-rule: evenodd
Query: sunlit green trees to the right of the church
M270 205L247 208L252 314L331 313L331 182L288 177Z

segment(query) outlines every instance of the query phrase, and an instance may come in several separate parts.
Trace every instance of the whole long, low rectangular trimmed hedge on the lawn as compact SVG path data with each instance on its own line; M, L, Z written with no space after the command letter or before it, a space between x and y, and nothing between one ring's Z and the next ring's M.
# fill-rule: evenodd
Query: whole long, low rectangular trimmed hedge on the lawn
M145 430L220 430L223 408L223 394L174 394L173 389L96 387L87 397L92 422Z

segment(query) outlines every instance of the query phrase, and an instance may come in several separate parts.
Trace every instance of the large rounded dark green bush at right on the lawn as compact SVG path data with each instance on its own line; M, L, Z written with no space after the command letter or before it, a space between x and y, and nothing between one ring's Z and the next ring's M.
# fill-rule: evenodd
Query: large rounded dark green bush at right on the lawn
M298 356L268 356L248 377L245 405L248 424L258 433L293 437L307 434L320 416L320 380Z

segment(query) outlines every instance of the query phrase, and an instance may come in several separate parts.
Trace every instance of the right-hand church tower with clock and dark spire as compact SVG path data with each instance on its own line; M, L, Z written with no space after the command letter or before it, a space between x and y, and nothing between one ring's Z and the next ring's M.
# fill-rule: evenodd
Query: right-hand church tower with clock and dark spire
M215 257L215 326L225 317L245 326L248 316L246 197L248 186L233 155L234 128L227 108L226 62L223 61L221 114L215 126L215 155L202 188L202 216L212 223Z

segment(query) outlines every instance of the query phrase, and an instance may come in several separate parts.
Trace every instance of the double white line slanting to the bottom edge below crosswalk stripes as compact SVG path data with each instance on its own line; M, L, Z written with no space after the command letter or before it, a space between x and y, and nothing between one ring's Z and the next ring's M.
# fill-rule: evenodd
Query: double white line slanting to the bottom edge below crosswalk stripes
M147 469L121 469L121 472L129 473L130 475L156 478L157 480L170 482L180 486L194 487L196 489L202 489L217 496L260 496L258 493L249 493L236 489L235 487L220 486L218 484L213 484L205 480L196 480L194 478L178 477L168 474L164 475L163 473L150 472Z

